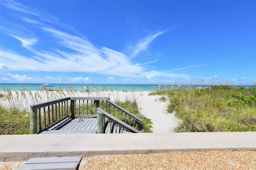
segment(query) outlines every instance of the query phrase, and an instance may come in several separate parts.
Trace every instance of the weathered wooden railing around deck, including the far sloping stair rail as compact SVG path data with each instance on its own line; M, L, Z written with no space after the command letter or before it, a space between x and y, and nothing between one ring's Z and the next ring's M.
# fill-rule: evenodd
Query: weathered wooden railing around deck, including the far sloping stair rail
M78 115L97 115L97 108L129 125L125 128L140 130L142 127L141 119L109 101L108 97L66 97L30 105L30 134L37 133L38 128L39 132L50 128L67 117L73 119ZM106 118L108 117L109 115L106 115ZM109 118L114 120L112 117Z

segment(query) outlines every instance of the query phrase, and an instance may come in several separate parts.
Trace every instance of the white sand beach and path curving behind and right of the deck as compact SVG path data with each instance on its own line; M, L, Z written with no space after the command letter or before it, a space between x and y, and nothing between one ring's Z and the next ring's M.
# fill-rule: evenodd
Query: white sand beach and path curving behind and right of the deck
M174 116L174 113L168 113L167 101L160 101L161 96L148 96L150 92L121 92L121 91L104 91L104 92L67 92L59 93L56 91L12 91L10 100L4 97L0 98L1 105L10 107L12 105L19 106L21 109L29 109L30 105L42 103L53 99L63 97L110 97L110 100L126 101L135 100L140 108L140 113L145 115L153 122L153 132L173 132L173 129L178 125L179 119ZM6 96L8 94L5 94Z

